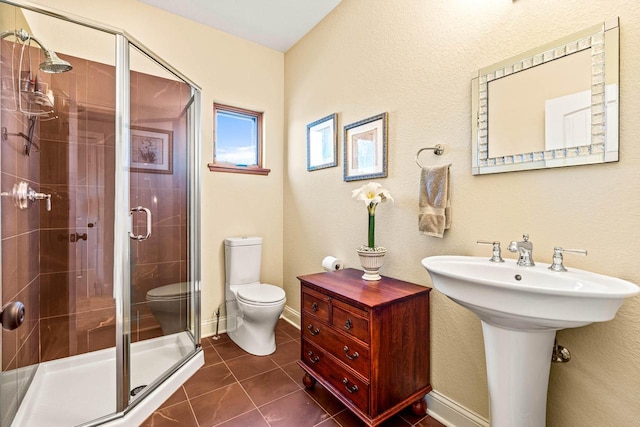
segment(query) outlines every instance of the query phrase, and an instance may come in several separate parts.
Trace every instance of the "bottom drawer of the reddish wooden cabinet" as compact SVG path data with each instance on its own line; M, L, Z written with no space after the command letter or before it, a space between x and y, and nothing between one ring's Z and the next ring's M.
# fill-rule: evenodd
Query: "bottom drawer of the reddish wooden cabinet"
M347 400L360 410L369 412L369 385L357 378L339 362L333 361L324 351L302 340L302 355L305 364L328 381Z

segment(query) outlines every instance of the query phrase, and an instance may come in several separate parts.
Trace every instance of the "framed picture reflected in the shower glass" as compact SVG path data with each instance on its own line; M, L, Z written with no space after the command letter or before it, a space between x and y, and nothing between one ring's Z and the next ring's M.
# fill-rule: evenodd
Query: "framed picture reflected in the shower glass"
M131 126L131 171L173 173L173 132Z

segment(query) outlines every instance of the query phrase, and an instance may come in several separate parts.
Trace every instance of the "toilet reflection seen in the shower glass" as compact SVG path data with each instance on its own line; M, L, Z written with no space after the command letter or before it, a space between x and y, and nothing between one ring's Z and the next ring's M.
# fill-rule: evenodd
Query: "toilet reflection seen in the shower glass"
M175 334L186 330L187 299L189 283L172 283L147 292L147 304L151 313L160 323L163 335Z

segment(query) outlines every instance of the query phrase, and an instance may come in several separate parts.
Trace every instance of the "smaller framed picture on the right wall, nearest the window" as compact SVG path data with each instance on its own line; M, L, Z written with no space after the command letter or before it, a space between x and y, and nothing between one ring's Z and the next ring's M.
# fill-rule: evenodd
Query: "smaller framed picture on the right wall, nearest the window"
M337 114L307 125L307 170L338 166Z

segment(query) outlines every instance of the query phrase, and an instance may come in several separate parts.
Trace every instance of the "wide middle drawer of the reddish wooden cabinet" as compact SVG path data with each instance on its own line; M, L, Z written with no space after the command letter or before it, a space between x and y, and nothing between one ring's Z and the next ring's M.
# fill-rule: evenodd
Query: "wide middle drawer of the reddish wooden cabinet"
M306 313L302 313L302 336L365 378L369 378L369 348L367 346L335 332L332 327L318 322L317 319Z

